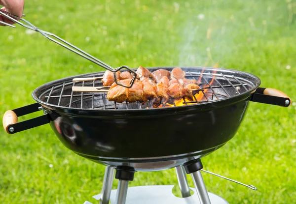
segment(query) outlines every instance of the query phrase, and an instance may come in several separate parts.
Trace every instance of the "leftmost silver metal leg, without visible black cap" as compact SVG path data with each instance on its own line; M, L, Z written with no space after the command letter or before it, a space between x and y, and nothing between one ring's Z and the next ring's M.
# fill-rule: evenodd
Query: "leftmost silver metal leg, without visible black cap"
M109 204L114 177L114 168L106 167L100 204Z

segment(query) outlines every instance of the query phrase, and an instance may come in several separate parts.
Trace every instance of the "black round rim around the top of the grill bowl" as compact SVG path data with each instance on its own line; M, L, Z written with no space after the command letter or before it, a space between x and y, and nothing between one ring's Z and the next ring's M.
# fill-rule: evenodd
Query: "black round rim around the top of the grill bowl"
M147 67L147 69L149 70L155 70L155 69L173 69L177 66L172 66L172 67ZM203 103L196 103L196 104L190 104L190 105L186 105L186 106L176 106L176 107L163 107L163 108L153 108L153 109L108 109L108 110L100 110L100 109L81 109L81 108L74 108L74 107L64 107L64 106L58 106L58 105L54 105L48 102L44 102L42 100L39 99L39 96L42 95L44 93L44 91L50 89L50 87L52 86L57 86L57 85L61 85L64 82L68 82L68 81L72 81L72 79L74 78L81 78L81 77L87 77L87 76L91 76L91 75L95 75L98 73L104 73L105 71L99 71L99 72L93 72L93 73L86 73L86 74L80 74L80 75L75 75L75 76L70 76L70 77L65 77L65 78L61 78L61 79L57 79L48 83L45 83L37 88L34 89L34 91L32 92L32 97L34 100L36 100L39 104L45 106L47 109L51 109L51 110L57 110L57 111L62 111L62 110L71 110L71 111L78 111L78 112L95 112L95 113L110 113L110 112L114 112L114 113L131 113L131 112L151 112L151 111L168 111L168 110L176 110L176 108L178 108L178 110L183 110L184 108L188 109L188 108L192 108L195 107L197 109L199 108L205 108L209 107L213 104L216 104L217 108L221 107L219 104L220 103L225 103L228 101L228 103L226 103L226 105L231 105L233 101L240 101L240 100L245 100L249 97L249 95L251 95L251 93L253 93L261 84L261 81L259 79L259 77L257 77L254 74L248 73L248 72L244 72L244 71L239 71L239 70L234 70L234 69L228 69L228 68L215 68L215 67L201 67L201 66L194 66L194 67L182 67L179 66L182 69L200 69L200 70L216 70L216 71L222 71L225 72L224 74L239 74L244 76L243 79L251 81L249 79L246 79L248 77L250 77L251 79L253 79L251 82L255 84L255 86L253 88L251 88L250 90L246 91L245 93L239 94L239 95L235 95L235 96L231 96L229 98L224 98L221 100L217 100L217 101L208 101L208 102L203 102ZM132 68L134 70L138 69L138 68ZM205 72L206 73L206 72ZM212 73L213 74L213 73ZM58 83L58 84L57 84ZM56 85L57 84L57 85ZM37 96L38 95L38 96ZM248 96L248 97L246 97ZM203 109L203 110L208 110L208 108ZM64 112L64 111L62 111ZM74 113L75 114L75 113ZM81 114L81 113L80 113Z

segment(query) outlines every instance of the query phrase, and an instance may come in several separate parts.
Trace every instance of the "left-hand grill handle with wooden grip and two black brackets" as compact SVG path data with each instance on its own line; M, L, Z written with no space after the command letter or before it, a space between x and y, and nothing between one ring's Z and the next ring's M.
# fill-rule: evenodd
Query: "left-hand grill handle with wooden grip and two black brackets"
M38 103L35 103L18 109L6 111L2 119L5 131L8 134L14 134L23 130L28 130L49 123L53 117L53 115L49 114L18 122L18 117L28 115L40 110L42 110L40 105Z

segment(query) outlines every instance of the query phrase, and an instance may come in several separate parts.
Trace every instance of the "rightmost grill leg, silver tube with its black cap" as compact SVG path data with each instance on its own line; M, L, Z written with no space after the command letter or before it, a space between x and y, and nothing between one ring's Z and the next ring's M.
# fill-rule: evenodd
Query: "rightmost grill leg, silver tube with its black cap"
M200 172L200 170L203 168L200 159L186 162L184 164L184 168L187 174L191 174L200 204L211 204L209 194Z

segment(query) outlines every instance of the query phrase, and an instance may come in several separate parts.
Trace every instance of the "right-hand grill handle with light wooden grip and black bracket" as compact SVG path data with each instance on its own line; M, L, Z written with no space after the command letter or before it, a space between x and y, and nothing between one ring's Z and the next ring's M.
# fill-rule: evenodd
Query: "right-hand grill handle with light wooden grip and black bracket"
M257 88L257 90L249 97L249 100L282 107L288 107L292 103L291 98L283 91L262 87Z

